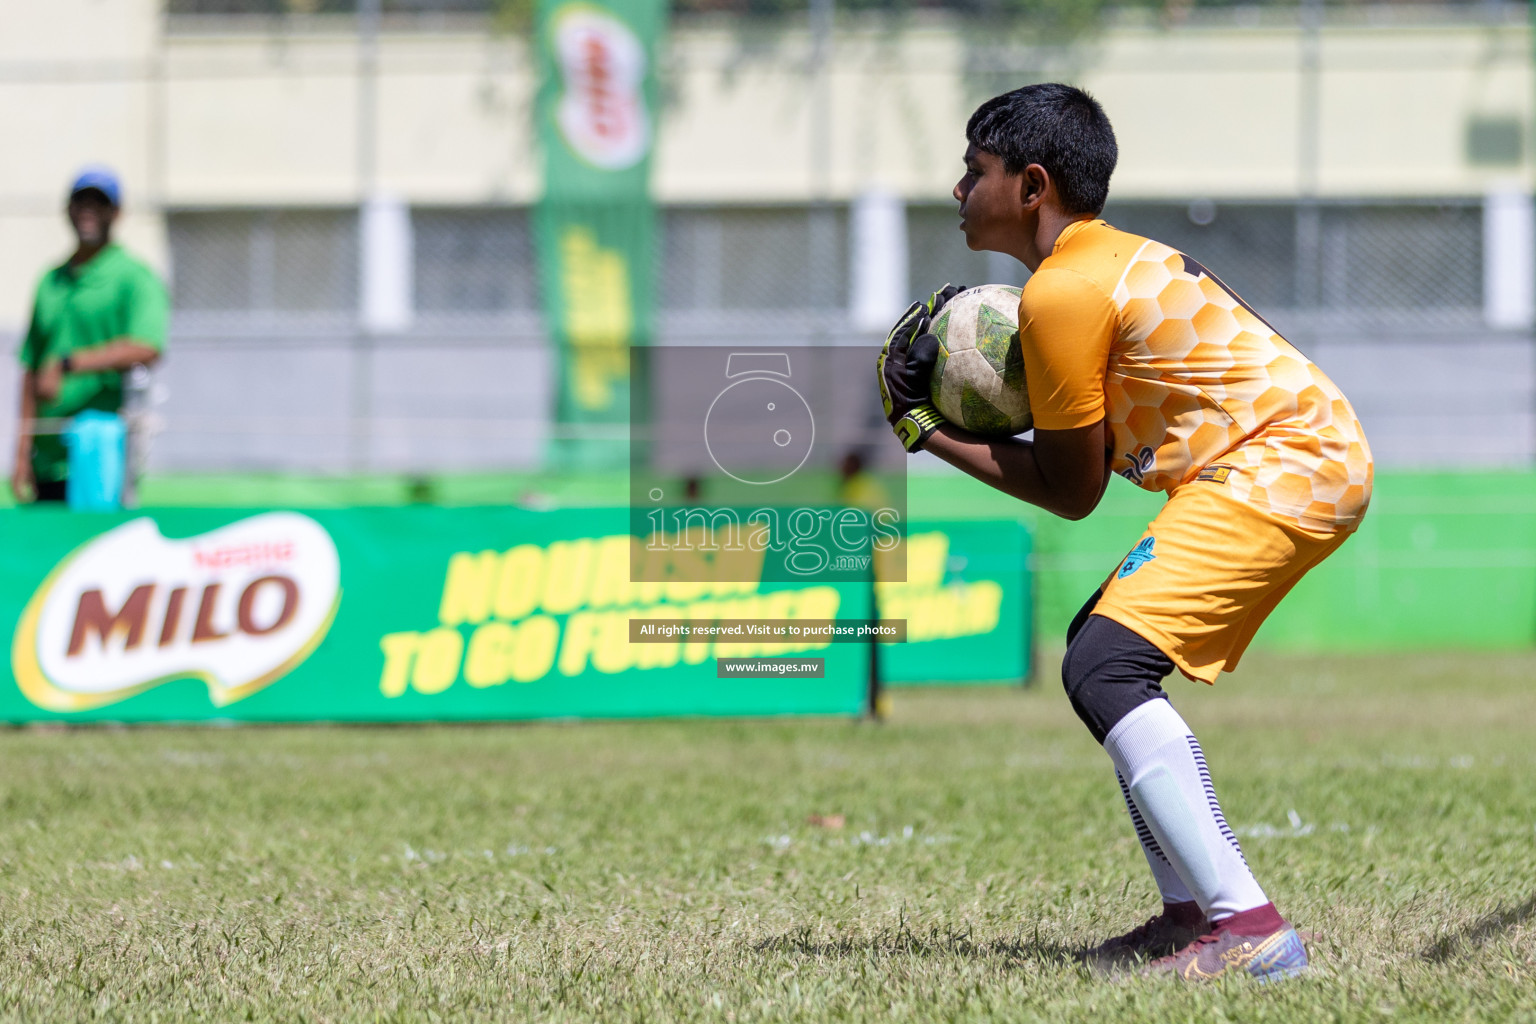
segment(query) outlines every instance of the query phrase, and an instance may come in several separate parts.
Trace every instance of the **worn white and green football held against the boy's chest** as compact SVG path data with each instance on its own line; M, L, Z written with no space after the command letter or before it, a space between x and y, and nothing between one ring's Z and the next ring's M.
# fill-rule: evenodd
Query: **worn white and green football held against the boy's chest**
M934 405L957 427L1012 436L1034 425L1018 347L1020 289L980 284L949 299L934 321Z

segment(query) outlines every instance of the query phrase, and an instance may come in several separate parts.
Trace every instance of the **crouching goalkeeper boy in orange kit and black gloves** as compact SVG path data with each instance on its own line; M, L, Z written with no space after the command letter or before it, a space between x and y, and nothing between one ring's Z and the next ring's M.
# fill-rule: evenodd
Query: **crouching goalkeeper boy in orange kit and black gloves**
M932 316L914 302L880 355L886 418L908 451L1066 519L1111 473L1167 504L1068 629L1061 679L1115 768L1163 895L1146 924L1089 950L1154 972L1296 973L1307 953L1221 815L1200 743L1161 680L1213 683L1264 617L1359 525L1372 461L1339 388L1203 266L1097 220L1117 146L1081 89L983 103L955 186L971 249L1034 275L1020 301L1034 442L971 434L932 407Z

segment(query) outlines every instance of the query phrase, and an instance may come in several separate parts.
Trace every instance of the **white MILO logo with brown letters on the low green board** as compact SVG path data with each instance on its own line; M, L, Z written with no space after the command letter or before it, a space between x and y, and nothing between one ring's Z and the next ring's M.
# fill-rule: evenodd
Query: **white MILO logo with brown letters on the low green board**
M12 543L43 524L15 525ZM58 550L46 531L40 540ZM17 620L11 671L46 711L92 711L175 679L197 680L223 708L303 665L339 605L336 545L307 516L263 513L186 539L132 519L43 577Z

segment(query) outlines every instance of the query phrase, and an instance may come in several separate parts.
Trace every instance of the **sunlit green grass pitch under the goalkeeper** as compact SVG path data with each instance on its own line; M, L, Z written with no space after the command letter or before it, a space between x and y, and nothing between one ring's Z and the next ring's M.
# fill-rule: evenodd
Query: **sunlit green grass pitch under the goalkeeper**
M1316 933L1269 987L1074 964L1155 897L1049 679L879 726L11 732L0 1018L1536 1019L1533 677L1255 656L1172 685Z

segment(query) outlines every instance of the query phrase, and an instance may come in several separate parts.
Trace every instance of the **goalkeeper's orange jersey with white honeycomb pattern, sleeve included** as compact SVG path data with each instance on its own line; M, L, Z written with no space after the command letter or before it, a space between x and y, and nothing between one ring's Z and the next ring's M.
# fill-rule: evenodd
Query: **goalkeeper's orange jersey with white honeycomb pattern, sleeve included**
M1025 286L1018 324L1035 427L1107 419L1132 484L1221 484L1304 530L1364 516L1370 448L1344 393L1184 253L1077 221Z

